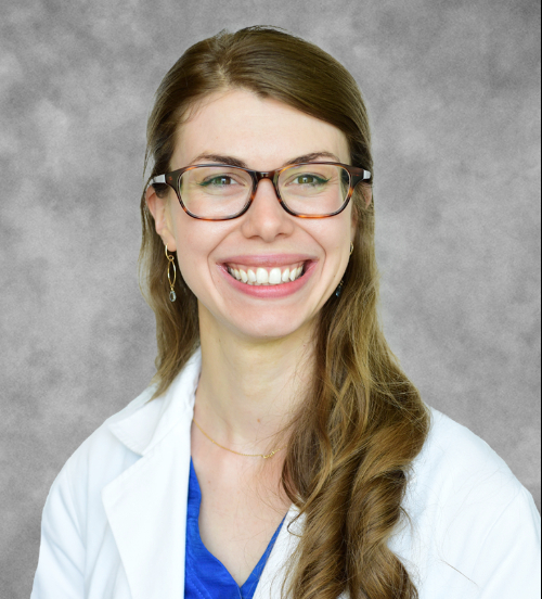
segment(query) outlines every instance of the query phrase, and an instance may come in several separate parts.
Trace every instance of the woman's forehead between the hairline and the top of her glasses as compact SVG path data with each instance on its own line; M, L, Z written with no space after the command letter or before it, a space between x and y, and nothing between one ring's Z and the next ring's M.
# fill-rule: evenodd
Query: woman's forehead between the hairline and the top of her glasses
M207 97L190 111L177 131L171 168L215 154L266 170L319 152L350 162L346 136L333 125L278 100L229 90Z

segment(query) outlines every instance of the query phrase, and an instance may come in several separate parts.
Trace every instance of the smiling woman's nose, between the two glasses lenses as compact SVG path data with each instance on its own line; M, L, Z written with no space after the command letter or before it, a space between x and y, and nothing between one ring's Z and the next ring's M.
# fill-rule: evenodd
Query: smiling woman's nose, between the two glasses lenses
M273 181L264 177L257 183L253 203L243 218L242 231L247 238L259 237L270 243L278 237L292 233L293 219L281 206Z

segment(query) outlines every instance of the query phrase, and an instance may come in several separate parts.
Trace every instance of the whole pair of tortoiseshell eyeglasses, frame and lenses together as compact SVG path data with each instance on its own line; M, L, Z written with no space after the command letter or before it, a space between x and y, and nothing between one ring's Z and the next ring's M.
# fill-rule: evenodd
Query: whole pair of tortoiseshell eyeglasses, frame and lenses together
M184 212L202 220L230 220L246 213L258 183L269 179L281 206L299 218L326 218L343 212L358 183L371 179L363 168L340 163L291 164L261 173L228 164L196 164L151 179L167 184Z

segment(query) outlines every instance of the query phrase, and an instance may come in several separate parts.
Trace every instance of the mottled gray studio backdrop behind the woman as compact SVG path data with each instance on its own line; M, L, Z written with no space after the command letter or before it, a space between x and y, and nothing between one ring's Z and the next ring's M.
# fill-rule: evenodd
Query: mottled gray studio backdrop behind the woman
M540 507L540 2L2 0L0 596L27 598L67 457L153 375L145 120L196 40L273 24L372 115L383 315L425 400Z

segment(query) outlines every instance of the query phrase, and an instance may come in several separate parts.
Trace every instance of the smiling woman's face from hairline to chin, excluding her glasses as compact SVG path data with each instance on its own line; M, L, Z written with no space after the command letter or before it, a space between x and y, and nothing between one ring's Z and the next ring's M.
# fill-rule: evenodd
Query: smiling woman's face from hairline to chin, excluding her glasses
M208 97L177 135L171 170L235 160L255 170L304 162L349 164L345 135L332 125L284 103L232 90ZM202 328L225 328L247 340L308 333L337 288L354 234L352 203L328 218L298 218L280 205L263 179L248 212L224 221L197 220L181 207L173 190L162 200L153 188L147 203L156 230L177 251L182 276L199 303ZM293 282L250 285L249 270L264 269L281 281L299 266ZM230 271L237 271L237 280ZM297 271L299 272L299 271ZM264 280L264 275L260 270ZM294 275L295 277L295 275ZM202 333L204 331L202 330Z

